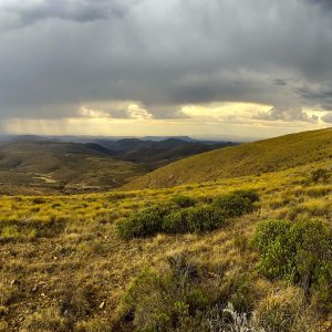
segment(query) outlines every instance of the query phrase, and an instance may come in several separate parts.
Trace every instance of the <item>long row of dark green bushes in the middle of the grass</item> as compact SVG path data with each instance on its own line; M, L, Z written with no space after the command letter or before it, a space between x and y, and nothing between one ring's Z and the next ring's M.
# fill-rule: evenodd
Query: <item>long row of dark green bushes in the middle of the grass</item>
M227 218L239 217L253 210L258 195L252 190L238 190L220 195L211 205L194 206L195 200L175 196L170 203L146 208L117 224L124 239L153 236L158 232L201 232L224 226ZM176 205L175 205L176 204Z

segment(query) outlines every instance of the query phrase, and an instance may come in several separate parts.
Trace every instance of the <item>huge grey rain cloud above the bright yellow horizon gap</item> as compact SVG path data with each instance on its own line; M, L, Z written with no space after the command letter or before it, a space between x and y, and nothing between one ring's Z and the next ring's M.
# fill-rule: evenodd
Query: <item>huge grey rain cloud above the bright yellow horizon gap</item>
M332 86L332 18L305 0L9 3L0 10L0 118L70 117L107 101L136 101L156 118L184 117L186 103L331 102L310 92ZM24 24L6 29L17 17Z

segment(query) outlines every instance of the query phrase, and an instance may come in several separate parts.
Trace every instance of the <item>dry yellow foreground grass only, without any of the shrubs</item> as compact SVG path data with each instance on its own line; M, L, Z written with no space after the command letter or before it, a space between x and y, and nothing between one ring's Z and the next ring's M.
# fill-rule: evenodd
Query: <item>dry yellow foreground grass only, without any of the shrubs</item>
M332 184L311 178L320 167L330 165L158 190L1 197L0 331L112 331L112 325L132 330L135 322L122 318L128 284L146 269L156 276L165 269L172 272L165 261L181 256L205 271L199 272L199 287L212 284L210 289L237 311L250 310L260 322L276 314L281 320L293 317L274 331L329 331L331 311L321 310L318 299L307 298L300 287L259 273L259 253L250 246L257 224L266 219L315 219L331 228ZM255 189L260 201L256 211L234 218L226 228L132 240L116 234L118 220L174 196L206 204L236 189ZM250 282L243 286L246 273ZM137 303L144 304L144 299Z

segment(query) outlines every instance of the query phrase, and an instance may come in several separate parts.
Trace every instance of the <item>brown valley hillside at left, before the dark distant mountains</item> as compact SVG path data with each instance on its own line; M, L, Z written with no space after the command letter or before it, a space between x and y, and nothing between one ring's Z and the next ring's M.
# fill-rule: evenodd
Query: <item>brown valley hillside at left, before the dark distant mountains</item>
M0 143L0 191L6 194L111 189L144 173L144 166L110 156L97 144Z

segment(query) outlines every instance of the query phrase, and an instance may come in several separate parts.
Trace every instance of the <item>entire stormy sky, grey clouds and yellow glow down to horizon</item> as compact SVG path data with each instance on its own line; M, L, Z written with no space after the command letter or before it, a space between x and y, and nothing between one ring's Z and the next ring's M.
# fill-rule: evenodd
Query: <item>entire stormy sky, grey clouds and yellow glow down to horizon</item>
M330 0L0 0L0 133L331 126Z

